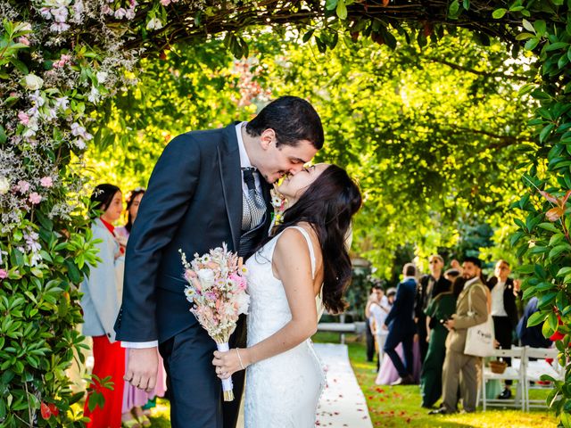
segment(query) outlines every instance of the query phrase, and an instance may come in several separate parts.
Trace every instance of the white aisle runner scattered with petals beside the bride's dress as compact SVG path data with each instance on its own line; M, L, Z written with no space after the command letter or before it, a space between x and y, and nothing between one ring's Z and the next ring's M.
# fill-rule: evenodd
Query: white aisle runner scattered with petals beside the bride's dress
M327 387L319 399L316 426L372 428L367 402L355 378L346 345L315 343L327 370Z

